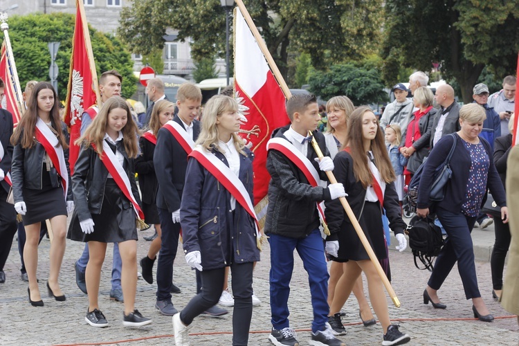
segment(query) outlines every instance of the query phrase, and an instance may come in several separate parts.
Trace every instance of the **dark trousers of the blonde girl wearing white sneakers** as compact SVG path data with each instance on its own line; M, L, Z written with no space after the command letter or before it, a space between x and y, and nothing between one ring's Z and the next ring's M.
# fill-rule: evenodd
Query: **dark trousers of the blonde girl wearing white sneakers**
M202 254L203 256L203 254ZM233 310L233 345L248 344L248 331L251 328L253 316L253 262L231 264L233 295L235 307ZM221 289L224 286L225 268L217 268L200 272L202 280L201 292L194 296L181 311L180 319L185 325L190 325L193 319L203 311L217 304Z

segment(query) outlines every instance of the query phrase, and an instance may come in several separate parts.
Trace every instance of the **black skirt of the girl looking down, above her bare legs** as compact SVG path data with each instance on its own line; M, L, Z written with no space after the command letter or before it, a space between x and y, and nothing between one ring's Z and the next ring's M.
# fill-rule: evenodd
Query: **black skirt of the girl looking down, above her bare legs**
M100 214L91 214L93 233L81 230L80 219L74 211L69 226L69 239L78 242L119 243L137 240L136 215L131 203L113 179L107 179Z

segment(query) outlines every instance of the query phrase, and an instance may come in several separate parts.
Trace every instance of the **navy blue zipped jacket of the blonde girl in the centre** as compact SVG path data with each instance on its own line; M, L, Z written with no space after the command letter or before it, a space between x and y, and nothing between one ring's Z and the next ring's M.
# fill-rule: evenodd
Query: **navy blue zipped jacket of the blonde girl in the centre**
M253 153L244 150L247 156L239 154L239 180L253 201ZM217 149L212 154L229 165ZM259 261L253 218L238 202L231 212L230 192L196 158L189 158L185 176L189 179L180 207L184 253L200 251L204 270Z

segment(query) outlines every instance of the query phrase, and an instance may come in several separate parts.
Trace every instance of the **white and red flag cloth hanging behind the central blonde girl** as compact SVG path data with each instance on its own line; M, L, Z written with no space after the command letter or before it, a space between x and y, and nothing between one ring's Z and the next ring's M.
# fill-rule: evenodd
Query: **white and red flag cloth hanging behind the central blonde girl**
M246 117L240 135L255 155L254 204L257 205L266 196L271 180L266 170L266 143L274 129L290 120L286 115L283 91L239 8L235 17L235 89ZM261 217L260 212L258 216Z

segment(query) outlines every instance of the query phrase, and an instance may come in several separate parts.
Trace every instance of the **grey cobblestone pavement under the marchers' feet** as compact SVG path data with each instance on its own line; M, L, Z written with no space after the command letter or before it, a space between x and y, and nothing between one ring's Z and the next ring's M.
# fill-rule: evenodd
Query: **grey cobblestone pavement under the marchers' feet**
M151 235L153 230L139 233L138 258L147 253L149 242L142 237ZM419 271L413 264L412 255L406 251L390 251L393 288L401 302L401 307L392 305L390 298L390 316L399 321L401 331L412 340L409 345L518 345L519 333L516 318L504 311L491 297L491 273L488 262L488 248L493 244L493 228L474 230L475 251L477 256L477 277L483 298L494 316L494 322L479 322L473 319L471 303L464 298L462 283L456 267L446 280L439 295L447 304L446 310L432 309L424 305L422 292L429 273ZM60 284L66 294L66 302L56 302L46 296L48 277L47 239L39 246L39 289L44 299L44 307L31 307L28 304L27 284L19 275L19 255L17 242L13 242L12 252L4 270L6 283L0 284L0 345L173 345L171 318L161 316L154 308L156 284L147 284L138 280L136 308L144 316L153 319L152 325L131 329L122 327L122 304L109 300L111 245L107 249L107 259L103 266L100 287L100 309L111 323L110 327L95 329L84 322L88 298L75 284L73 264L80 257L83 244L67 241L67 248L62 266ZM392 243L394 248L394 242ZM179 248L181 248L179 246ZM308 289L307 273L302 262L295 254L295 268L291 282L291 327L298 330L300 345L308 345L312 310ZM268 331L270 308L268 306L268 270L269 248L264 246L262 262L257 264L254 273L255 294L262 304L254 307L251 324L250 345L270 345ZM155 268L156 269L156 268ZM174 283L182 293L174 295L175 307L181 309L192 298L196 289L194 273L185 264L184 255L179 251L174 266ZM367 292L367 286L365 285ZM231 308L232 309L232 308ZM348 300L343 309L346 316L343 322L348 334L342 339L347 345L381 345L382 330L379 324L371 327L360 325L358 306L354 298ZM232 311L223 318L196 318L190 329L191 345L232 345Z

